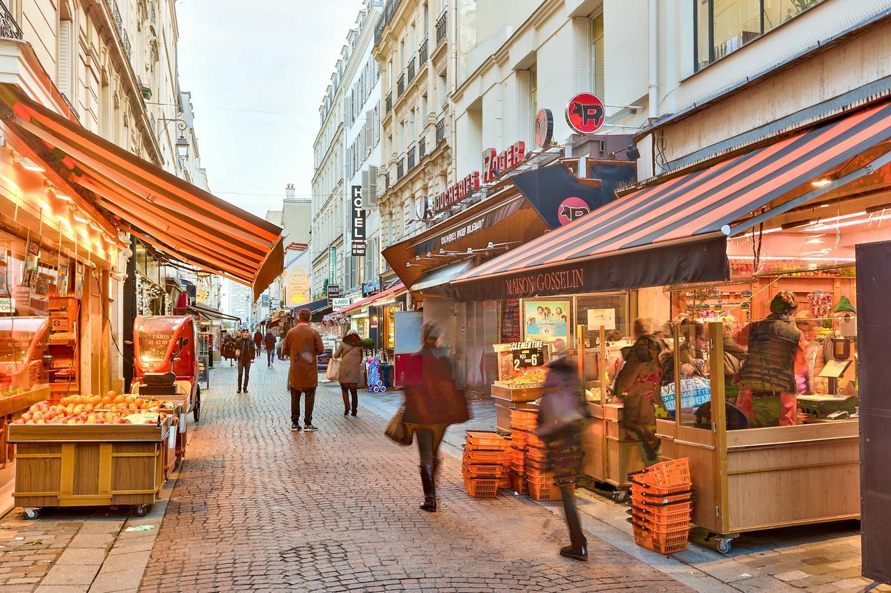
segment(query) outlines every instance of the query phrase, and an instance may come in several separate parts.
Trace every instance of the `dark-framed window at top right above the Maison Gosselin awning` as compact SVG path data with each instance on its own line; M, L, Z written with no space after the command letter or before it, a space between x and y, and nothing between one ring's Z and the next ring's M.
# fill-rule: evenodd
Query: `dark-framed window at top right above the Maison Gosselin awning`
M699 70L823 0L692 0Z

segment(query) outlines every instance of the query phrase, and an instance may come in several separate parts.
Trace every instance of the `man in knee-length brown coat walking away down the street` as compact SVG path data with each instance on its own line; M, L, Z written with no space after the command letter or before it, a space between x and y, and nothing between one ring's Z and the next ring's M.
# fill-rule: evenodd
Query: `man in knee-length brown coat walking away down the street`
M300 309L297 325L291 328L282 342L282 353L290 357L288 386L290 387L290 429L300 430L300 394L307 394L304 428L318 430L313 426L315 387L319 385L319 370L315 357L325 351L322 336L309 325L309 309Z

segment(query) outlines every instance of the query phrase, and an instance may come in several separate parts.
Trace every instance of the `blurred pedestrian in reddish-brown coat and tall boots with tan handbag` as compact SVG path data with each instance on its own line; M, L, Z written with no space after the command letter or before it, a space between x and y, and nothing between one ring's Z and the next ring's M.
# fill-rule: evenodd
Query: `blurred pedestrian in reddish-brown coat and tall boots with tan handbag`
M470 414L463 392L452 378L452 361L437 355L441 331L435 321L421 326L421 350L405 361L404 422L418 440L421 486L424 501L421 509L437 510L437 451L446 428L467 422Z

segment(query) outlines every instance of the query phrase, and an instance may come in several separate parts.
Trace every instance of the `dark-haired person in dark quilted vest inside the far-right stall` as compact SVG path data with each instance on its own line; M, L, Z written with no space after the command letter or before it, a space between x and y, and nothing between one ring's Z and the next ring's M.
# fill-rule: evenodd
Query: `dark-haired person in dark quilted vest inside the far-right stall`
M804 337L792 320L797 309L795 293L781 290L773 296L771 314L737 335L737 343L748 346L737 407L751 428L796 424L796 359L805 352Z

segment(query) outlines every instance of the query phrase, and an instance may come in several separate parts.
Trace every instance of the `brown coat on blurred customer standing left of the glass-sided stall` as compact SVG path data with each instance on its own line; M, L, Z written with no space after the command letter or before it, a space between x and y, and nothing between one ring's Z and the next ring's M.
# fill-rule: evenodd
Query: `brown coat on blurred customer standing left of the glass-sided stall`
M625 353L625 365L618 371L613 390L624 402L626 425L656 425L653 406L664 407L659 395L662 385L659 353L665 347L665 342L656 337L642 336Z

